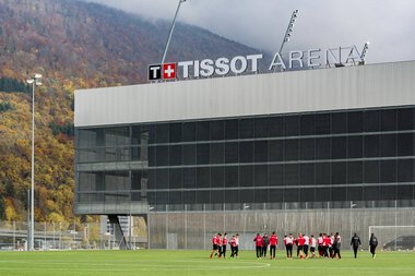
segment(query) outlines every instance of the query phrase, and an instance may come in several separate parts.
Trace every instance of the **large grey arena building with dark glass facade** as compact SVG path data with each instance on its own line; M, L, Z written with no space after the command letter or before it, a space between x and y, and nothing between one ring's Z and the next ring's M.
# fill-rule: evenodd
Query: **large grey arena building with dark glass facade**
M150 248L366 242L415 225L414 145L415 61L76 91L75 213L144 216Z

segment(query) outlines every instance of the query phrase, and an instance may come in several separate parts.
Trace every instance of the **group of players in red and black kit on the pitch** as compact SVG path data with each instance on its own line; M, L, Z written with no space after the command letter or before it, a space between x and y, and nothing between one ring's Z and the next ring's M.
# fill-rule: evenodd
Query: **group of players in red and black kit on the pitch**
M375 236L372 236L375 237ZM375 237L376 239L376 237ZM287 255L287 260L293 259L293 249L297 248L297 257L298 259L309 259L309 257L332 257L332 259L342 259L341 255L341 245L342 238L339 232L331 233L330 236L327 233L320 233L319 237L315 238L313 235L308 237L305 233L298 233L297 237L294 237L293 233L288 236L284 236L284 247ZM275 252L278 244L278 238L275 232L272 232L270 237L266 233L261 236L257 233L257 237L253 239L257 252L257 259L266 257L268 249L270 249L270 259L275 260ZM227 233L217 233L212 239L213 249L210 257L226 257L226 248L227 244L230 245L232 254L230 257L238 257L239 252L239 235L236 233L228 241ZM351 245L353 247L355 257L357 257L357 250L361 245L360 239L355 233L352 237ZM377 241L376 241L377 245ZM376 245L372 248L372 238L370 239L370 252L372 253L372 257L376 256L375 250ZM316 255L316 249L318 255Z

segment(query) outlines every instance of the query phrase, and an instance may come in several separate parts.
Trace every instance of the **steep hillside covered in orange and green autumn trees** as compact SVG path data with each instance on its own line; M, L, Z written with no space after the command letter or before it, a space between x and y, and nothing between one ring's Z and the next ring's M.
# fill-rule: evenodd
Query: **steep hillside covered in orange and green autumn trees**
M73 206L73 93L145 82L168 22L76 0L0 0L0 220L25 220L31 183L31 89L36 89L35 219L79 220ZM167 60L257 53L178 24Z

